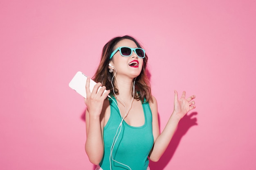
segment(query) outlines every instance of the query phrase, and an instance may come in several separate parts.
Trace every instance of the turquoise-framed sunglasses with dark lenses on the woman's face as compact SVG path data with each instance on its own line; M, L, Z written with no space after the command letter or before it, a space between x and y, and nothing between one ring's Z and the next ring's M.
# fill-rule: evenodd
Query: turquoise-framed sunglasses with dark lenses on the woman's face
M137 54L137 56L141 59L145 57L145 50L142 48L118 47L117 49L115 49L115 51L111 53L110 59L115 55L118 50L123 57L130 57L132 55L132 51L134 51L135 54Z

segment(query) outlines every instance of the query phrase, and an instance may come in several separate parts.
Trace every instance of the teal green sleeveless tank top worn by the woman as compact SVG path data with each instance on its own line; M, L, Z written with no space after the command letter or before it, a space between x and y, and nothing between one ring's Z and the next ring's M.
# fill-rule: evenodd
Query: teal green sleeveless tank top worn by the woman
M112 97L115 102L116 99ZM119 109L112 99L110 101L110 118L104 127L104 155L99 166L103 170L110 170L110 148L121 122ZM121 133L112 151L115 161L129 166L132 170L146 170L148 167L148 154L153 147L154 137L152 131L152 113L148 102L142 103L145 123L134 127L123 121ZM119 128L120 129L120 128ZM119 131L118 131L119 132ZM127 166L112 161L112 170L130 170Z

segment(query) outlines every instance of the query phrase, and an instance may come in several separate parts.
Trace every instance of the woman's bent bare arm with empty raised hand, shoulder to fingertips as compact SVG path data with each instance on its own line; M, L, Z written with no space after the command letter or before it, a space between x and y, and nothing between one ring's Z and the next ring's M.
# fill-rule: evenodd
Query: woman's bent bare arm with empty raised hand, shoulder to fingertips
M178 100L178 94L175 91L174 110L161 134L159 134L156 100L154 99L154 103L150 105L153 117L152 125L153 136L155 141L153 149L149 155L150 160L158 161L160 159L160 157L166 150L168 144L170 143L180 119L183 118L183 116L187 112L195 108L195 102L192 101L195 98L195 96L193 95L187 99L185 99L185 96L186 92L183 92L182 97L180 98L180 100Z

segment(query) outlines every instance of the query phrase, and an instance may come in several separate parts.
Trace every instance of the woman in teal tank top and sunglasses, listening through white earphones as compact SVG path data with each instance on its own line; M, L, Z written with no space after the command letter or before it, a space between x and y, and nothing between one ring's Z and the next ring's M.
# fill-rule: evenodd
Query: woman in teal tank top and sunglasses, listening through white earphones
M115 37L103 48L94 76L99 83L92 92L87 80L85 151L99 165L97 169L149 170L148 157L159 160L180 119L195 108L194 95L186 99L183 92L178 100L174 91L174 110L160 134L157 100L146 76L147 61L136 39Z

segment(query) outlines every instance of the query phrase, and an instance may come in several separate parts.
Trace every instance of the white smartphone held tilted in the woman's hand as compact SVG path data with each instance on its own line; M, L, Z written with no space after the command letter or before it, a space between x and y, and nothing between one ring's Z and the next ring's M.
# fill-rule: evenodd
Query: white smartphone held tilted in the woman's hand
M82 72L77 72L75 76L72 78L70 83L68 84L70 88L72 88L74 91L76 91L78 94L86 98L86 91L85 91L85 84L86 84L87 76L83 74ZM92 89L94 85L97 83L90 79L90 92L92 92ZM100 89L101 87L99 87ZM98 91L99 91L98 89ZM106 90L104 91L104 93Z

